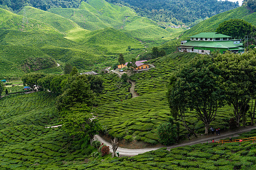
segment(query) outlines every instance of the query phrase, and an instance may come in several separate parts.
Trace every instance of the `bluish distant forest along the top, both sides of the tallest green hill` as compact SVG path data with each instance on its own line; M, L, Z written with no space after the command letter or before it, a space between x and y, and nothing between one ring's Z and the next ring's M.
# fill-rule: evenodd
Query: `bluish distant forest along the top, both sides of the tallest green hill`
M77 8L82 0L0 0L0 7L20 11L32 6L47 11L52 7ZM86 0L84 0L86 2ZM238 3L217 0L106 0L132 7L139 15L156 22L195 24L205 18L238 7Z

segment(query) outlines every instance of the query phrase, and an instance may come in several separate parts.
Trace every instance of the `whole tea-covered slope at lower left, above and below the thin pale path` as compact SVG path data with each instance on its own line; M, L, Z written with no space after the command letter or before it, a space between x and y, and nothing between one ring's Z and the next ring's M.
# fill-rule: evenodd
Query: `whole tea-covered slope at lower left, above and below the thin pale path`
M0 169L58 169L90 155L93 147L61 128L46 128L58 124L55 101L48 92L0 99Z

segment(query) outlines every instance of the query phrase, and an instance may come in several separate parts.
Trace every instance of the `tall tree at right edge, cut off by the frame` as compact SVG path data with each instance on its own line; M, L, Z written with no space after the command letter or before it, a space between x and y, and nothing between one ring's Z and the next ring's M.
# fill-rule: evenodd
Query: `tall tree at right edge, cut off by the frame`
M249 111L249 102L255 99L255 52L244 54L218 54L216 65L224 78L222 89L225 90L226 101L234 108L234 118L237 126Z

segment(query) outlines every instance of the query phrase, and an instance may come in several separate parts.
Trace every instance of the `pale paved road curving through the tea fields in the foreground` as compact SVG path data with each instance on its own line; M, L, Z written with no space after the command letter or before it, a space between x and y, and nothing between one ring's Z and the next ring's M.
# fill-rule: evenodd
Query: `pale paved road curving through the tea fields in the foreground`
M248 126L246 128L241 128L241 129L234 130L234 131L227 131L225 133L221 133L220 135L213 135L213 136L210 136L210 137L195 139L193 141L189 141L189 142L184 142L184 143L168 146L167 150L171 150L171 148L175 148L175 147L189 146L189 145L195 145L195 144L199 144L199 143L206 143L207 141L211 142L212 138L214 138L214 141L217 142L220 139L225 139L225 138L228 138L228 137L238 137L239 136L238 134L245 133L245 132L253 130L253 129L256 129L256 126ZM110 152L113 151L111 143L109 143L109 142L105 141L104 139L102 139L100 137L100 135L95 135L94 136L94 140L98 140L101 143L105 143L107 146L109 146ZM160 147L141 148L141 149L128 149L128 148L118 147L117 152L119 152L119 155L121 155L121 156L135 156L135 155L138 155L138 154L143 154L144 152L157 150L159 148Z

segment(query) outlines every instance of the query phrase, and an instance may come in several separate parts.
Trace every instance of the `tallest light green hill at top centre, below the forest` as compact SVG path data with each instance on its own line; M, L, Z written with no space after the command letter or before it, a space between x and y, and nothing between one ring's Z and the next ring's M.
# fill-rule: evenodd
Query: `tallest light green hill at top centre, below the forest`
M129 7L101 0L81 2L79 9L51 8L49 12L71 19L90 31L112 27L121 29L138 40L162 40L162 37L169 37L171 34L153 20L138 16Z

